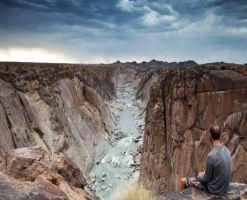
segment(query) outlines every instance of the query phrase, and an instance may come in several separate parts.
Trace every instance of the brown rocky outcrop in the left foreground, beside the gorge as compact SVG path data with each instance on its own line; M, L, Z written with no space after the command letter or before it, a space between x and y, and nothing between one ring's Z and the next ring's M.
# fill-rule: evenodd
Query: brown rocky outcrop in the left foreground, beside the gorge
M83 174L64 155L40 147L0 154L1 200L93 200L83 187Z

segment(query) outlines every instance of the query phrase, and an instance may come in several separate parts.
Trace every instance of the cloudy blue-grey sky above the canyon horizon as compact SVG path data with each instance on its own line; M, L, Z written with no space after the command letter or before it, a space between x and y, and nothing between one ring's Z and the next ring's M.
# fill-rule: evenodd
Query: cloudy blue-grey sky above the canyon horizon
M0 0L0 61L247 63L247 0Z

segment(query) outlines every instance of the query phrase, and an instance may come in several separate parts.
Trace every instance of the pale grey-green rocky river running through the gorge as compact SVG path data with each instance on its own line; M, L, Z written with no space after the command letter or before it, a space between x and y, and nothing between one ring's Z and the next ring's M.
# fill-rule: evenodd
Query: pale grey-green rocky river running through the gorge
M144 118L138 114L140 103L131 83L118 86L116 92L120 106L117 124L110 136L108 152L92 169L87 188L103 200L112 200L114 192L137 181L140 171L144 127Z

